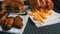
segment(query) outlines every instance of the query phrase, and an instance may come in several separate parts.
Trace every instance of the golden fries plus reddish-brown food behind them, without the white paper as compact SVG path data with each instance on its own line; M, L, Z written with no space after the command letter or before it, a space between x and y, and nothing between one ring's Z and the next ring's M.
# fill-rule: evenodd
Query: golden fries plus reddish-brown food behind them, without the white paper
M35 21L44 24L44 20L47 19L47 16L52 15L50 11L54 8L54 3L52 0L27 0L27 2L32 7L31 16L34 16Z

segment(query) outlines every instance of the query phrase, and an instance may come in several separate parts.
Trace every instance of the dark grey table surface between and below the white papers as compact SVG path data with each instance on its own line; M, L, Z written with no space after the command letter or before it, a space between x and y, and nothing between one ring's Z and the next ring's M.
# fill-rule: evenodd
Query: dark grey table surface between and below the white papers
M53 10L58 13L60 12L56 7ZM15 33L0 31L0 34L15 34ZM23 34L60 34L60 23L37 28L33 21L29 18Z

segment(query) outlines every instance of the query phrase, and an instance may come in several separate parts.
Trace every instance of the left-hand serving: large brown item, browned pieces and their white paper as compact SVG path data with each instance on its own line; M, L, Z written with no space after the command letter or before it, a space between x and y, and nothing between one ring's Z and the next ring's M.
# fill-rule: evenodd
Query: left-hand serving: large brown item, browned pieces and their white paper
M23 0L4 0L0 11L0 31L22 34L28 21Z

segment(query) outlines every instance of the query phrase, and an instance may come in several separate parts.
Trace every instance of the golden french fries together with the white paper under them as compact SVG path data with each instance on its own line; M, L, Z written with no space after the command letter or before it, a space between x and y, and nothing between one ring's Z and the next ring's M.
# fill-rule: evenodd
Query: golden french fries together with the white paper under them
M30 12L29 16L37 27L60 23L60 14L53 10L49 10L47 13L43 11Z

